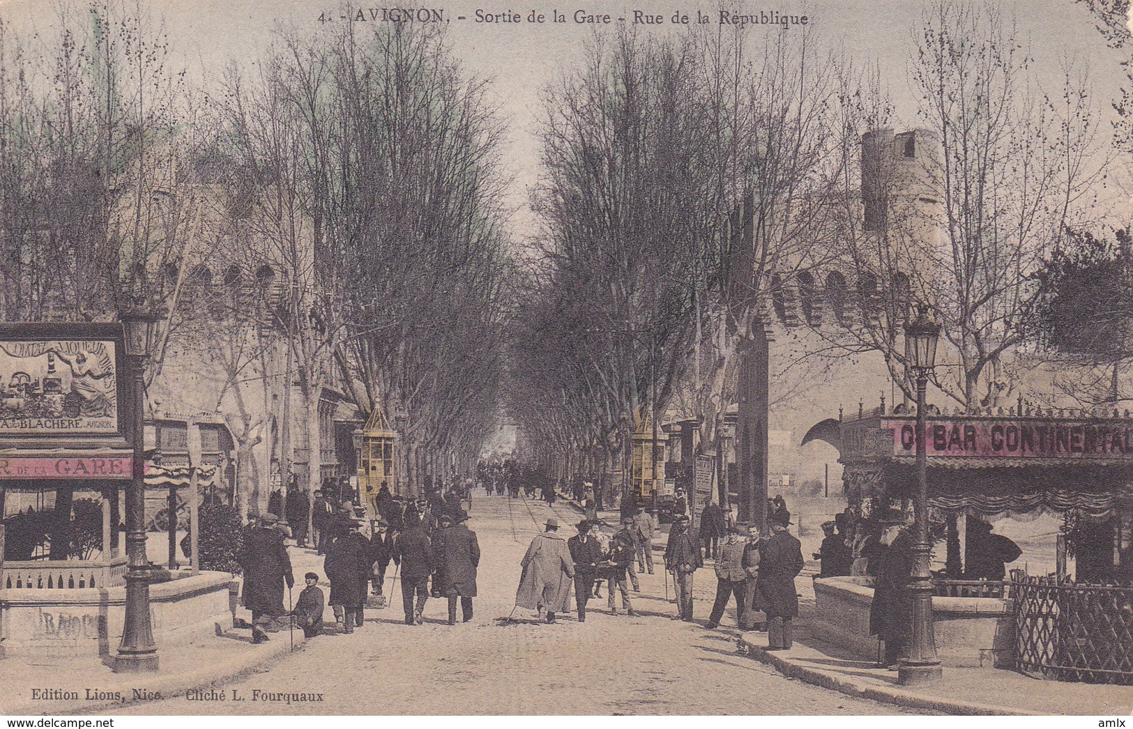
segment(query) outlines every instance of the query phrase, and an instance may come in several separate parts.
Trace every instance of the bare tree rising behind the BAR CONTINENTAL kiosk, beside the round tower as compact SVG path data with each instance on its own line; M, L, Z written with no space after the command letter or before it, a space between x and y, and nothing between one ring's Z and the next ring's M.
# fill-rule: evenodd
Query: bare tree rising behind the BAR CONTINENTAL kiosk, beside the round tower
M880 351L910 395L895 344L910 299L934 303L954 360L937 385L960 405L989 406L1008 395L1004 358L1041 294L1033 274L1091 199L1092 100L1070 70L1057 95L1036 88L994 6L939 2L919 28L912 80L926 129L863 143L866 213L845 215L857 273L845 342Z

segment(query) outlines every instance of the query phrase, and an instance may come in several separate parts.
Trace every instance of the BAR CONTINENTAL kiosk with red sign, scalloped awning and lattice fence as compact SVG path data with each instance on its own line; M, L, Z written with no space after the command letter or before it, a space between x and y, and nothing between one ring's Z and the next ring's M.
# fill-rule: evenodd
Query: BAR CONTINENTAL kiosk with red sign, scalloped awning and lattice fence
M896 410L824 421L804 439L838 448L850 512L863 524L885 509L908 512L913 496L917 421ZM1022 406L932 412L925 441L935 551L944 556L935 564L932 612L945 664L1133 683L1133 418ZM978 526L1042 515L1062 521L1049 540L1054 555L1024 555L1004 578L972 574L987 544ZM1049 574L1023 568L1050 561ZM819 626L832 638L876 650L869 577L818 580L816 595Z

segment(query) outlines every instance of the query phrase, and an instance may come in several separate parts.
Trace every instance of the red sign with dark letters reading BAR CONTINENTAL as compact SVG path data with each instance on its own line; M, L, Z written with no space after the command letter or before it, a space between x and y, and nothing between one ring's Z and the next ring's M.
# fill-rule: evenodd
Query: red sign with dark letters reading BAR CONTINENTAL
M883 420L880 429L892 434L893 455L915 453L915 420ZM1133 422L931 418L927 423L926 446L929 456L939 457L1133 460Z

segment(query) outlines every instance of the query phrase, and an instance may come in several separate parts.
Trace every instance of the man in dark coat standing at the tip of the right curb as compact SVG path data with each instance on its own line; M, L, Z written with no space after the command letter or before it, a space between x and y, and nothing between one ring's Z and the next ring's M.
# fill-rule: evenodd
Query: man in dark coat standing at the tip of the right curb
M786 531L790 521L781 514L768 517L772 535L759 547L757 599L767 614L767 650L785 651L793 640L793 620L799 615L794 578L802 572L802 544Z

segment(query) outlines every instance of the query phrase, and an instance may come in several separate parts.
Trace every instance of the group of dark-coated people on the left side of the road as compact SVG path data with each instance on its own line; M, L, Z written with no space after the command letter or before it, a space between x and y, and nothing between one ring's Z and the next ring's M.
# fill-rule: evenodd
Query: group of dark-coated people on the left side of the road
M480 554L476 533L466 525L467 489L451 486L442 492L429 488L424 498L406 500L382 483L374 499L378 518L369 520L355 505L348 481L324 481L309 503L310 549L323 557L330 595L324 601L320 576L312 572L304 576L306 588L292 604L295 578L284 539L307 546L307 512L288 507L297 500L307 504L306 497L292 498L296 491L289 490L287 497L273 495L269 512L253 520L242 534L238 560L244 571L242 601L252 611L253 642L266 641L269 633L289 624L312 637L324 629L353 633L365 624L368 600L385 606L384 583L391 564L395 573L400 571L407 625L421 625L429 597L448 598L450 624L455 623L458 603L463 620L471 619ZM272 507L284 511L289 522L280 520ZM290 522L292 516L296 521ZM334 615L333 626L323 625L326 604Z

